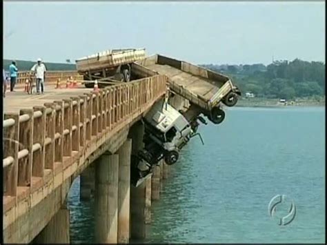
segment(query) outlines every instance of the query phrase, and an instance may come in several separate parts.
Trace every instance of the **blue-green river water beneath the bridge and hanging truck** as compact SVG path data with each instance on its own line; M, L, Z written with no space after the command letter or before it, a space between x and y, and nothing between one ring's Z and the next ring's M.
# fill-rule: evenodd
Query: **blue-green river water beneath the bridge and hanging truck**
M321 243L325 237L325 108L226 108L200 126L152 203L146 243ZM273 217L268 205L286 195ZM279 225L293 201L293 222ZM92 202L70 195L71 242L92 243Z

